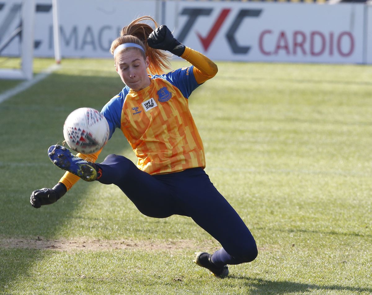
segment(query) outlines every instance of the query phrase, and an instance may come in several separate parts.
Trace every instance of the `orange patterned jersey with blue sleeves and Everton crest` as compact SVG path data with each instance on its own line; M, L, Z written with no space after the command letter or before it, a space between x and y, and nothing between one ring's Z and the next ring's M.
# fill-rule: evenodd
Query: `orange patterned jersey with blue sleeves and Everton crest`
M110 136L120 128L137 155L137 167L149 174L205 167L203 143L188 98L199 84L193 66L150 76L150 86L128 86L102 109Z

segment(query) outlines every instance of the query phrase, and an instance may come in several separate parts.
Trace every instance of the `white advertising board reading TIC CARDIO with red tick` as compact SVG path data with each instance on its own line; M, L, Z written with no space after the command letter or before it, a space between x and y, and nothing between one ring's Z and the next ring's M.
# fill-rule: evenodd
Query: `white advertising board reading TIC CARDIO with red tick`
M362 62L363 4L166 4L176 37L215 60Z

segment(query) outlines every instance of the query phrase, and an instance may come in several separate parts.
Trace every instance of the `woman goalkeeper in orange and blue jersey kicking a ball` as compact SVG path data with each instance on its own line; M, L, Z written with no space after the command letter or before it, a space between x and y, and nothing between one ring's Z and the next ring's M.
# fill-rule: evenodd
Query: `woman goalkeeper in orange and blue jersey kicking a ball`
M154 22L155 31L142 21ZM191 66L169 70L170 51ZM205 173L205 153L191 116L188 99L193 90L217 73L217 65L177 41L166 26L143 16L121 30L110 52L125 87L102 109L110 137L121 129L137 155L131 160L110 154L94 163L100 153L71 155L52 145L52 162L67 170L52 189L32 192L31 205L40 208L60 199L78 179L115 184L149 217L173 214L191 217L222 248L213 254L196 253L195 263L225 278L228 264L250 262L257 256L253 236ZM149 74L151 73L151 74ZM141 190L138 190L141 187Z

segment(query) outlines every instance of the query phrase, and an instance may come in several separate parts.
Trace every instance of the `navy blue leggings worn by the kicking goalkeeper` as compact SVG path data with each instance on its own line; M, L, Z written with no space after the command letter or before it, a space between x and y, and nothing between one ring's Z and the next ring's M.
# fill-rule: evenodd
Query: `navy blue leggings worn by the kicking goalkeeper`
M212 255L217 267L256 258L252 234L202 168L150 175L115 154L96 166L102 170L98 181L117 185L142 214L155 218L174 214L191 217L221 243L223 248Z

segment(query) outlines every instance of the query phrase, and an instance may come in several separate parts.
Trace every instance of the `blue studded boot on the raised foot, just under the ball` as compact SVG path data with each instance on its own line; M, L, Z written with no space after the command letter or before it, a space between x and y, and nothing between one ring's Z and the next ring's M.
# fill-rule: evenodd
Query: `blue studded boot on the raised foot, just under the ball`
M94 164L71 154L70 150L55 144L48 149L48 156L53 164L63 170L71 172L85 181L97 179Z

